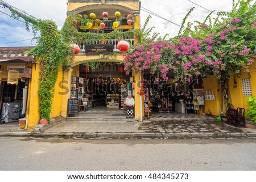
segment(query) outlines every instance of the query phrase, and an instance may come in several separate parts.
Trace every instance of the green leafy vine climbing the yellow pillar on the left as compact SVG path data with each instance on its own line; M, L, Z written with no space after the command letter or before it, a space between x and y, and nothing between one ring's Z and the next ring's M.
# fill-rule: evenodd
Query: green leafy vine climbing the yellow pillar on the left
M38 58L39 64L39 113L40 118L51 119L52 99L54 86L61 66L69 64L69 56L72 49L69 44L62 41L60 31L51 20L36 19L13 9L6 3L0 3L0 7L7 8L13 18L22 18L25 21L27 31L30 26L34 35L39 31L38 44L28 54Z

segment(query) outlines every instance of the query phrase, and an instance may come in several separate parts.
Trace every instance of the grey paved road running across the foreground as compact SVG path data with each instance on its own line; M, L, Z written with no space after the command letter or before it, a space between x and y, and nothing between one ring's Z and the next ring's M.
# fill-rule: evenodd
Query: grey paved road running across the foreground
M0 170L256 170L256 138L0 137Z

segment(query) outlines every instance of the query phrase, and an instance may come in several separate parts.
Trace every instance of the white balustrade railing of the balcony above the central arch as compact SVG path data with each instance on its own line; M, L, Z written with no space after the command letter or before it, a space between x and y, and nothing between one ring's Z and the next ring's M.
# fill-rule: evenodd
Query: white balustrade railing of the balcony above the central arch
M134 45L134 39L126 39L126 41L130 45ZM117 49L117 44L118 44L117 39L106 39L104 44L114 45L114 52L119 52L119 50ZM85 45L102 45L102 41L101 40L83 40L83 41L80 41L79 46L80 46L81 53L85 53Z

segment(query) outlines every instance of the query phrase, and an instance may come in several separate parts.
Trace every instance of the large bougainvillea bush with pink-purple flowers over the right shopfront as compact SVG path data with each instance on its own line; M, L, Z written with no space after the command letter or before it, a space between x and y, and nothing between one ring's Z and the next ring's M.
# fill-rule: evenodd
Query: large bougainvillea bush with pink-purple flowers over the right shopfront
M173 70L177 79L205 76L208 73L228 81L230 75L239 77L242 71L249 72L255 58L255 3L238 1L231 12L220 12L227 18L209 25L192 23L183 33L171 41L154 40L138 44L125 56L127 73L131 70L166 73ZM238 6L239 5L239 6ZM209 19L209 16L207 17Z

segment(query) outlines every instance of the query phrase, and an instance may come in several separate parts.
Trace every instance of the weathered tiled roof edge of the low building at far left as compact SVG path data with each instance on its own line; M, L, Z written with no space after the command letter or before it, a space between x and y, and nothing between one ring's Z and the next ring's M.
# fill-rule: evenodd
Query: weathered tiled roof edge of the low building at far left
M26 51L34 48L33 46L20 47L0 47L0 62L3 63L19 63L33 62L33 56L27 56Z

